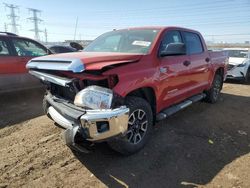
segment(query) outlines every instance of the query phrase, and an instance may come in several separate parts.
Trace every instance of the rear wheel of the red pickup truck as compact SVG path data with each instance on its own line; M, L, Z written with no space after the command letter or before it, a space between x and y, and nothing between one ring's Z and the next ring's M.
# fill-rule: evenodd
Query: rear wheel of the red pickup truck
M216 103L220 97L220 91L222 89L222 84L223 84L223 81L222 81L222 77L221 75L219 74L216 74L214 76L214 80L213 80L213 83L212 83L212 87L206 91L206 98L205 100L209 103Z

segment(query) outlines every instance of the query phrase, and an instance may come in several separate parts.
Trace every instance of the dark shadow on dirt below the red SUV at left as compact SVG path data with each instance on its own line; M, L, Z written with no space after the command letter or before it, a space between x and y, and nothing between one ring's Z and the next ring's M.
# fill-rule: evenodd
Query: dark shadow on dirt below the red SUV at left
M0 129L43 115L43 88L0 94Z

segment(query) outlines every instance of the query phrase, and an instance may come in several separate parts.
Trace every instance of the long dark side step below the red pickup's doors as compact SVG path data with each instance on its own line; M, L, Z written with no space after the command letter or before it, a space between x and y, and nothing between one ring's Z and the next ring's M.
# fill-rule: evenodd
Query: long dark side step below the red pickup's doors
M199 95L194 95L186 100L184 100L181 103L178 103L174 106L171 106L169 108L166 108L165 110L162 110L159 114L156 116L156 121L161 121L163 119L166 119L167 117L171 116L172 114L190 106L191 104L198 102L206 97L206 94L201 93Z

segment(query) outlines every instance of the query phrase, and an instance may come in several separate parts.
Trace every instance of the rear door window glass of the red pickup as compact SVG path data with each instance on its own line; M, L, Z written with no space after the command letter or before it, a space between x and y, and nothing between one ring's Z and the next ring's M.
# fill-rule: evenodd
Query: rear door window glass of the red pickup
M183 32L188 54L200 54L203 52L201 39L198 34Z

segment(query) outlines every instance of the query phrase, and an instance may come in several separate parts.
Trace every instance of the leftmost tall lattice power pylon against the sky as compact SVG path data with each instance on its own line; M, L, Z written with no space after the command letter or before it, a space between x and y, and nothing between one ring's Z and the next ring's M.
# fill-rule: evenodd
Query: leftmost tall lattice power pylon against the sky
M17 26L19 25L17 24L17 19L19 18L19 16L16 15L15 10L19 9L19 6L7 3L4 3L4 5L6 8L10 9L10 14L8 14L7 17L10 19L9 25L11 25L11 32L18 34Z

